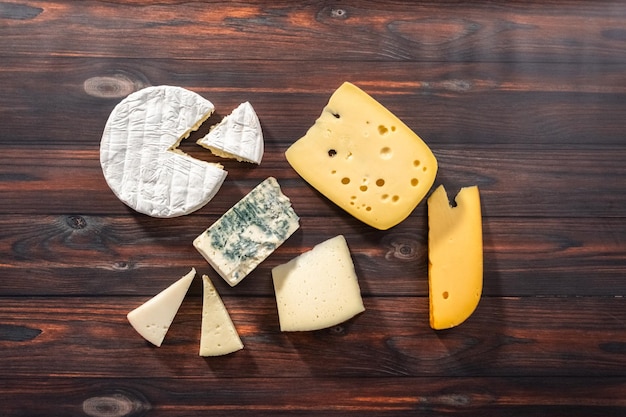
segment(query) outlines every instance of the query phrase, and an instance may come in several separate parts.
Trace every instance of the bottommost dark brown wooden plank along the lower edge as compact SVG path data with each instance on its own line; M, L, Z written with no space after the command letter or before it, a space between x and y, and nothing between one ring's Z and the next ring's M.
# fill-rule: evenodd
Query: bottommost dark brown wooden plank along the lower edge
M28 382L15 389L12 380L0 381L0 390L28 403L42 399L30 416L48 416L52 407L66 415L92 413L100 407L124 410L127 416L211 414L215 416L282 416L294 414L396 416L507 415L536 413L574 417L619 416L624 378L500 378L403 377L381 378L375 384L361 378L178 378L173 388L167 378L148 381L100 378L56 378L55 385ZM268 386L274 389L269 389ZM487 390L485 387L493 387ZM329 396L329 393L333 393ZM272 404L268 407L267 404ZM24 415L10 405L5 415ZM92 414L93 415L93 414Z

